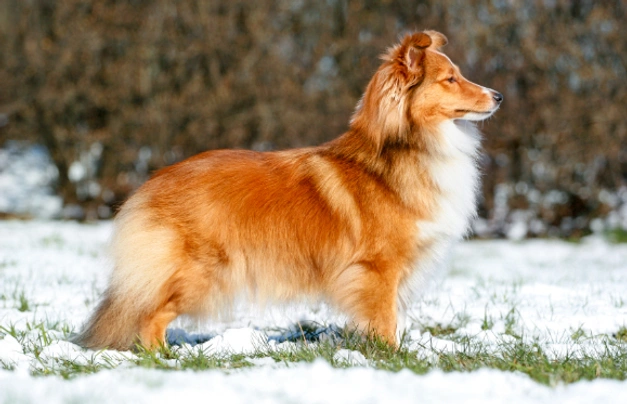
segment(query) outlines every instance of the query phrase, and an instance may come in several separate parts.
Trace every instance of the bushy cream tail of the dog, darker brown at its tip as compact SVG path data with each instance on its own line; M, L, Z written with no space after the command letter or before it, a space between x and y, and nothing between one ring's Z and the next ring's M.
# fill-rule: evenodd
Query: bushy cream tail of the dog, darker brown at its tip
M100 304L73 339L82 347L133 348L176 269L172 246L177 235L151 221L138 205L138 198L131 198L116 218L111 243L115 267Z

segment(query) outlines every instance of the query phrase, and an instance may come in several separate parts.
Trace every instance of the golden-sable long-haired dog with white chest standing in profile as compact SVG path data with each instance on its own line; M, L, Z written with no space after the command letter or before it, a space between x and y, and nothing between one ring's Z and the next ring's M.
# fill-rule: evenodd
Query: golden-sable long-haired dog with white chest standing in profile
M465 79L435 31L382 56L340 137L214 150L158 171L121 207L108 288L75 342L154 349L180 315L321 298L396 344L413 291L476 214L480 134L503 96Z

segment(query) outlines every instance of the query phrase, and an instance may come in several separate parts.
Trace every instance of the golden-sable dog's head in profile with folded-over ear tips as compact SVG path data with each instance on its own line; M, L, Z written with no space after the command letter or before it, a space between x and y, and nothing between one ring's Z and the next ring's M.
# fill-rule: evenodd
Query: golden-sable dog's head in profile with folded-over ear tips
M503 96L472 83L440 48L444 35L424 31L406 35L382 56L357 107L353 124L366 124L388 136L404 137L415 126L447 120L479 121L491 116Z

